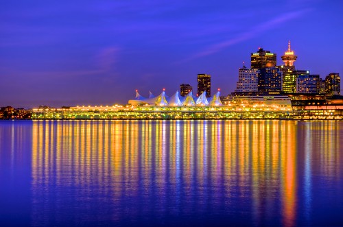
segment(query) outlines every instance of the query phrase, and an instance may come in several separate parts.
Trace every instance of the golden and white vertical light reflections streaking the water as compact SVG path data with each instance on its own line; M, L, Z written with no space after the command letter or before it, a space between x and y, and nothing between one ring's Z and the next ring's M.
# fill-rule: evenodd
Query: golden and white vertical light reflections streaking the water
M113 206L123 198L158 198L165 213L169 206L202 213L242 202L257 225L279 207L281 224L294 226L299 187L311 207L312 170L341 177L337 128L335 121L33 121L33 194L38 201L58 187L75 187L87 198L95 187Z

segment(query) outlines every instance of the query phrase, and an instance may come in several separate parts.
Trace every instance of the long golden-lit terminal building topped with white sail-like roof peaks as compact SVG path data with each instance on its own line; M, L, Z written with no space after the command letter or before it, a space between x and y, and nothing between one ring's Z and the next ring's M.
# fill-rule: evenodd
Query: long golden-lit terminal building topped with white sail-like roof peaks
M223 101L222 101L223 100ZM287 96L220 97L209 99L190 92L143 97L137 91L128 105L36 108L33 119L292 119L291 99Z

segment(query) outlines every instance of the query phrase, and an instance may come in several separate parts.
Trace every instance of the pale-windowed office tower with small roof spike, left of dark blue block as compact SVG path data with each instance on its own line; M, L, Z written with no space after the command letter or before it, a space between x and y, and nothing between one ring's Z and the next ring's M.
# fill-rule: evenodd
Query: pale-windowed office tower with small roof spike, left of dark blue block
M258 69L247 69L245 65L238 69L238 82L235 92L258 91Z

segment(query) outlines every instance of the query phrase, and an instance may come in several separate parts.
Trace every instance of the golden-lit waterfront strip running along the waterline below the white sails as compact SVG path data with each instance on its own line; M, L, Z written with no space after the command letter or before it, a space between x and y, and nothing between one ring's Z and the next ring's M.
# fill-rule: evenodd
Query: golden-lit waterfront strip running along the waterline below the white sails
M256 106L87 106L34 109L32 119L342 119L342 109Z

